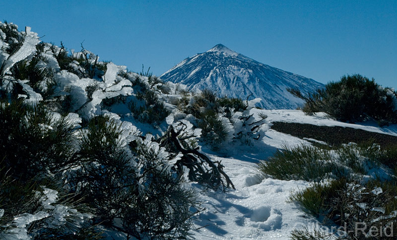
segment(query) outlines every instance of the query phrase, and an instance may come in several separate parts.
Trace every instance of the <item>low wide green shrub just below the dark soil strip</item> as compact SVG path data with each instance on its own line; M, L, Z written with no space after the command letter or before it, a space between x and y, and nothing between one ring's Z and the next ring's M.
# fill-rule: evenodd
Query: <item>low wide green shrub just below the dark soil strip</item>
M388 152L392 151L381 150L379 145L372 143L343 144L333 150L310 145L284 146L272 157L261 161L258 170L264 178L280 180L357 180L364 175L384 178L374 176L371 171L382 167L381 161L389 161Z

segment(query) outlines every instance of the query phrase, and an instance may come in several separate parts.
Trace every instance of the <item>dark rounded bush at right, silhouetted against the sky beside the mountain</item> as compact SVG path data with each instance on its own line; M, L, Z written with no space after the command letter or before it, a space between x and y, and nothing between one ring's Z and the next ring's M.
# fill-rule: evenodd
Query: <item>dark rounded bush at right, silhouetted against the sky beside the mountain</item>
M317 92L303 95L298 89L288 89L294 96L306 101L307 114L325 112L336 120L364 121L374 119L380 125L397 123L397 93L384 88L374 79L359 74L341 77Z

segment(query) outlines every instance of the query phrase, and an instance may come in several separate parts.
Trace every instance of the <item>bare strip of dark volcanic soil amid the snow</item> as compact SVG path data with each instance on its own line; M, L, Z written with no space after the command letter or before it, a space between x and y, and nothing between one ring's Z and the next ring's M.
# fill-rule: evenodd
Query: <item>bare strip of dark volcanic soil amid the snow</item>
M381 145L381 147L397 144L397 136L370 132L351 127L317 126L305 123L276 121L273 122L273 126L271 126L271 128L278 132L290 134L295 137L313 138L319 141L327 142L332 146L349 142L368 142L371 140Z

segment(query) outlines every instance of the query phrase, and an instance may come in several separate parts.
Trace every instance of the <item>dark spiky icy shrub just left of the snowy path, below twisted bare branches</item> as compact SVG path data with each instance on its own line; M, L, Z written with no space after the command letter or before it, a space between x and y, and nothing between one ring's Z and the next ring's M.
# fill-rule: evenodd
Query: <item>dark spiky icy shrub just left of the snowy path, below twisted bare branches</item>
M122 209L125 232L137 239L186 238L197 205L195 191L171 169L169 161L175 160L150 135L136 139L132 152L138 173L131 188L135 199Z

